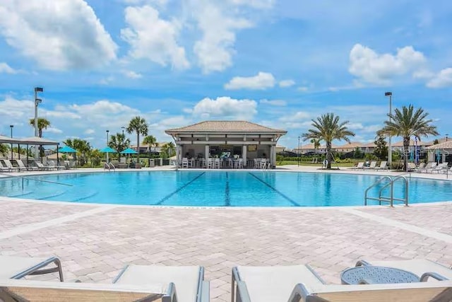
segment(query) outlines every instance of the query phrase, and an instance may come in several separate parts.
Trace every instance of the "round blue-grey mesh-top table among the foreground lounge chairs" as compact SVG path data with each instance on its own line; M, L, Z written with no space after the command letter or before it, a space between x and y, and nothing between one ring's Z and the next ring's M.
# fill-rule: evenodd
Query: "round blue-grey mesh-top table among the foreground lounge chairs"
M411 283L419 282L419 277L412 272L393 267L361 266L345 269L340 274L340 281L342 284L360 284L361 281L370 284Z

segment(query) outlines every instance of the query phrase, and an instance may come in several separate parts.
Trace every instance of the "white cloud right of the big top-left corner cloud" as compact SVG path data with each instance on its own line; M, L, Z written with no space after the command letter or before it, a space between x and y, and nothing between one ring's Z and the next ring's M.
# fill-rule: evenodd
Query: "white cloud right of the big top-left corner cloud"
M151 6L129 6L125 14L129 27L121 29L121 37L131 45L131 57L149 59L162 66L171 64L175 69L189 68L184 47L177 44L179 23L163 20Z

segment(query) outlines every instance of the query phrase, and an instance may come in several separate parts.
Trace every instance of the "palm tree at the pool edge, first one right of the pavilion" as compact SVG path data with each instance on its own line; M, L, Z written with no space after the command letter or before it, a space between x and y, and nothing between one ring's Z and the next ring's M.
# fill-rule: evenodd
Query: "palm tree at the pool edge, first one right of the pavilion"
M326 164L327 169L331 169L331 161L333 160L333 153L331 152L331 142L333 139L345 140L350 143L348 137L355 137L355 133L347 129L348 121L339 122L339 117L334 113L326 113L317 117L317 120L312 120L312 127L307 133L302 134L303 139L318 139L326 142Z

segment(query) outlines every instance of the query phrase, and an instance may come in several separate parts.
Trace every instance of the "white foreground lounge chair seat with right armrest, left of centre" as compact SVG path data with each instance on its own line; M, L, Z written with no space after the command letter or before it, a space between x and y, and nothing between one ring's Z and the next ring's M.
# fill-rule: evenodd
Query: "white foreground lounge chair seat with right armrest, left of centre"
M177 302L209 300L209 282L204 281L204 268L199 266L127 265L113 283L137 286L157 283L173 284Z

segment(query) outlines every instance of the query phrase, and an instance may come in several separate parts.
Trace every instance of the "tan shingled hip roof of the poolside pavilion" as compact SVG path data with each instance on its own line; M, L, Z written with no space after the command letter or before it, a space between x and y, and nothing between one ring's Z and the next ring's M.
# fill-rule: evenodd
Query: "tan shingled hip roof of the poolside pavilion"
M191 124L186 127L167 129L167 134L178 133L261 133L261 134L286 134L287 131L280 129L273 129L262 126L260 124L254 124L253 122L246 121L206 121Z

